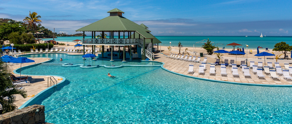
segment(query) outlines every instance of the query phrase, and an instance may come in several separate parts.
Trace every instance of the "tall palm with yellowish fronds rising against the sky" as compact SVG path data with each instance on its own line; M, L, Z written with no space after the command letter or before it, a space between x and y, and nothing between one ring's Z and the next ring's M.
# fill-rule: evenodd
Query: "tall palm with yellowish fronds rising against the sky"
M30 13L29 17L25 17L25 19L23 19L23 21L25 21L23 24L27 24L27 28L34 30L36 33L36 27L37 27L36 24L41 25L40 22L42 22L42 20L40 20L39 18L41 18L41 16L38 15L38 13L36 12ZM39 41L39 35L37 33L36 33L36 37L38 38L38 41Z

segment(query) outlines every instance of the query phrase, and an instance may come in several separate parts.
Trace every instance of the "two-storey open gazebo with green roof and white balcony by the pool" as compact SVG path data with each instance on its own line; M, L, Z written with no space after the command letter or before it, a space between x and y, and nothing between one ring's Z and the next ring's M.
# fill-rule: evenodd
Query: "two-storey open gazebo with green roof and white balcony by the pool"
M85 45L92 46L92 54L95 54L95 46L101 46L101 55L98 55L98 57L105 58L105 56L108 56L110 61L113 61L113 58L120 59L121 56L123 56L123 62L126 58L132 60L132 52L137 52L135 56L142 60L146 58L153 60L153 44L161 42L150 34L151 31L147 29L148 27L126 19L122 16L124 12L117 8L107 13L110 13L110 16L76 30L83 31L83 49L85 49ZM92 38L85 38L85 31L90 31ZM96 38L96 32L101 32L101 37ZM118 33L118 38L114 38L114 32ZM107 37L105 37L105 33L107 33ZM125 37L125 34L128 37ZM108 49L110 53L104 51L105 46L110 46L110 49ZM118 47L118 51L115 53L114 47ZM120 53L120 47L123 49L122 53ZM129 54L126 54L126 47ZM85 54L85 51L83 51L83 54ZM141 56L138 54L141 54Z

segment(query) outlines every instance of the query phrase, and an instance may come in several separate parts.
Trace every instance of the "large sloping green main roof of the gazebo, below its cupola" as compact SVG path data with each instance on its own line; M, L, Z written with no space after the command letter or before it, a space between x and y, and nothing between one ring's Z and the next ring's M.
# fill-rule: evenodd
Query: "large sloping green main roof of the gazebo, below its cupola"
M136 31L146 39L155 38L152 34L149 33L151 31L143 28L135 22L130 21L129 19L124 18L123 16L108 16L76 31Z

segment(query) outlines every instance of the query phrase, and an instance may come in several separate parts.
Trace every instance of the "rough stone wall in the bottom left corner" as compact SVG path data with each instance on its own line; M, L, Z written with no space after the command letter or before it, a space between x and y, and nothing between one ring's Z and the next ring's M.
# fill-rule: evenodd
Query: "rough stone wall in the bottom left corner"
M37 112L37 110L39 110ZM42 124L45 123L45 106L31 105L0 115L0 124Z

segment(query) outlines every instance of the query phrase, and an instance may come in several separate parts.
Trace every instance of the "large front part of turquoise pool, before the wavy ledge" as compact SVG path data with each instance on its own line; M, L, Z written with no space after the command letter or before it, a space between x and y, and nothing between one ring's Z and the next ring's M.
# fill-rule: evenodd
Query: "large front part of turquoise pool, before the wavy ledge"
M130 64L130 63L129 63ZM116 78L106 74L110 72ZM205 81L161 67L81 69L39 64L23 74L66 81L31 101L49 123L291 123L290 87Z

